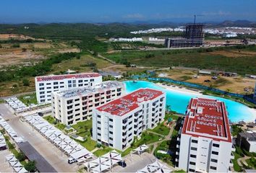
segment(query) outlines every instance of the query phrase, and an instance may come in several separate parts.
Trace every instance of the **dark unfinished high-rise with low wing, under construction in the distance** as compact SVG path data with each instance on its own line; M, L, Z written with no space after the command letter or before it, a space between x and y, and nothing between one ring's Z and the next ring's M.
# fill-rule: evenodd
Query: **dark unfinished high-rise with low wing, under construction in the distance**
M167 48L185 48L199 47L203 45L204 34L202 32L204 25L191 24L186 26L184 37L167 38L165 45Z

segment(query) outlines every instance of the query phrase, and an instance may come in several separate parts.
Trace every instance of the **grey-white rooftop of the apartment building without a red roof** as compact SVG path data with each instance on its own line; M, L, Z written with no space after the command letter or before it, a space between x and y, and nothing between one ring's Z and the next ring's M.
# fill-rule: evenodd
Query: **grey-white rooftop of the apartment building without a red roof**
M111 89L113 87L121 88L122 86L124 86L124 84L122 84L120 81L103 81L101 84L97 84L95 86L64 89L56 93L59 94L61 97L69 98L69 97L75 97L77 95L90 94L97 91L102 92L102 89Z

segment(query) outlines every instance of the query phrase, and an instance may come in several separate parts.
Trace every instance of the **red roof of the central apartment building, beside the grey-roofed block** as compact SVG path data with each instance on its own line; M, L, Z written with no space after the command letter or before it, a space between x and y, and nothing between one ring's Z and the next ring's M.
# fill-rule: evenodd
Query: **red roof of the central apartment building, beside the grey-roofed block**
M135 92L127 94L119 99L114 99L106 105L96 108L98 111L111 113L111 115L125 115L139 107L139 102L155 99L163 94L163 92L155 89L138 89Z

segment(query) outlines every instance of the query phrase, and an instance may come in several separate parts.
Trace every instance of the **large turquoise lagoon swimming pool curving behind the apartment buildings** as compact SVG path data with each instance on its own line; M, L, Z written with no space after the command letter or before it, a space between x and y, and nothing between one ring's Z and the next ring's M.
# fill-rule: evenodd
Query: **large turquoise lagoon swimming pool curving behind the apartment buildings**
M252 122L256 118L254 110L247 107L246 105L243 105L239 102L235 102L230 99L223 99L221 97L213 97L188 92L173 91L170 89L164 89L163 87L158 86L149 81L124 81L124 84L127 88L127 93L133 92L139 88L159 89L163 92L166 92L166 104L171 106L171 110L174 110L182 114L184 114L184 112L187 110L189 99L191 99L192 97L206 97L219 99L225 102L227 110L229 112L229 120L231 120L231 122L239 122L240 120Z

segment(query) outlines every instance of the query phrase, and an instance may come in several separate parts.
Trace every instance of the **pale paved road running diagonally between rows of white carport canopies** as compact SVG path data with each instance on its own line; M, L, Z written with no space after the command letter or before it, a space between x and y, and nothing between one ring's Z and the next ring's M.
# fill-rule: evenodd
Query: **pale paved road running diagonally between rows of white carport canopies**
M7 105L0 105L1 116L8 120L9 125L20 135L25 141L28 141L38 154L43 156L49 164L51 164L57 172L75 172L77 170L76 164L67 164L67 156L50 143L46 138L40 135L36 130L28 125L22 123L20 117L16 117L9 111Z

